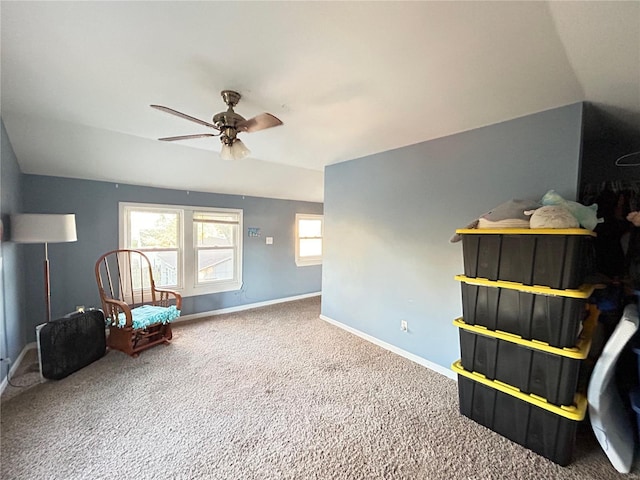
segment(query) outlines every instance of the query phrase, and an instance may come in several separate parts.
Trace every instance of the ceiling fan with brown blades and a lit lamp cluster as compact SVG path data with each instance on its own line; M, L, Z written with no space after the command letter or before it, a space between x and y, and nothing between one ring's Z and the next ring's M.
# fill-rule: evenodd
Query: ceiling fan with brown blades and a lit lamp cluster
M224 103L227 104L228 108L226 112L216 113L213 116L211 122L205 122L204 120L200 120L199 118L195 118L191 115L178 112L177 110L169 107L163 107L162 105L150 105L152 108L155 108L162 112L170 113L171 115L184 118L185 120L189 120L191 122L204 125L205 127L210 127L218 130L218 133L196 133L194 135L164 137L159 138L158 140L173 142L176 140L189 140L192 138L219 136L220 141L222 142L220 157L223 160L240 160L242 158L245 158L251 152L244 145L244 143L242 143L242 140L237 137L237 134L239 132L251 133L257 132L258 130L264 130L265 128L277 127L278 125L282 125L282 122L270 113L261 113L260 115L256 115L253 118L245 120L243 116L238 115L233 111L233 107L238 104L241 95L238 92L234 92L233 90L223 90L222 92L220 92L220 94L222 95L222 99L224 100Z

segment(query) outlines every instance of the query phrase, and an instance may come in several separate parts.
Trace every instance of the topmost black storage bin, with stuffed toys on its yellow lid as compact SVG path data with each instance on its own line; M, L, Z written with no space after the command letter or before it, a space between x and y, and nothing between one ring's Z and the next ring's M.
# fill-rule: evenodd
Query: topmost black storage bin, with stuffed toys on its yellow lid
M468 277L574 289L592 274L595 247L590 230L461 229Z

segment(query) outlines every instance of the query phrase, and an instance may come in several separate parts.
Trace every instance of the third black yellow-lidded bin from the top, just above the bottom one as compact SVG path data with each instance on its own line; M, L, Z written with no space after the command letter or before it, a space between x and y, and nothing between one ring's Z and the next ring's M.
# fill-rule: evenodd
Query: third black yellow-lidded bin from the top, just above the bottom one
M597 318L592 316L576 348L560 349L502 332L454 321L460 331L465 370L511 385L554 405L570 405L578 387L580 366L589 354Z

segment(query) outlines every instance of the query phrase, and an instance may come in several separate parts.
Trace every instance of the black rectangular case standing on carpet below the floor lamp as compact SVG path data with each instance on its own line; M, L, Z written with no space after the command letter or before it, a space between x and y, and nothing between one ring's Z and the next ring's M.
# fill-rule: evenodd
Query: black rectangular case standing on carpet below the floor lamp
M40 374L60 380L107 351L102 310L73 312L36 328Z

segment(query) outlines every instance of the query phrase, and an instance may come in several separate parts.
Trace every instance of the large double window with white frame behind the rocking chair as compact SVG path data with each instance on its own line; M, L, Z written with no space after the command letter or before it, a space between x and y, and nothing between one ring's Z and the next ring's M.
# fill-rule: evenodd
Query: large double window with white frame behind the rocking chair
M143 251L158 287L183 296L242 287L242 210L120 204L120 245Z

